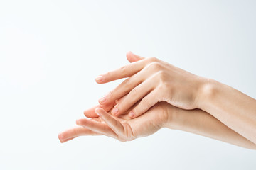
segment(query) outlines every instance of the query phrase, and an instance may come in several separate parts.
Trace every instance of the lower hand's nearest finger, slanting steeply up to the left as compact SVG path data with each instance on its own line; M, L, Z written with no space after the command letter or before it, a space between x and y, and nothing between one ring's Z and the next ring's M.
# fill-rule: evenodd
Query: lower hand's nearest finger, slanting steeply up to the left
M105 112L102 108L96 108L95 113L99 114L102 120L117 134L124 135L123 125L112 117L109 113Z

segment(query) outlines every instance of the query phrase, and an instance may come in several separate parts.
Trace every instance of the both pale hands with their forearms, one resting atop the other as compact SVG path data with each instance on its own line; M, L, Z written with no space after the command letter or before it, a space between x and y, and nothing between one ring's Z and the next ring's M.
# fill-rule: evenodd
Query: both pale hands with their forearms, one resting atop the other
M96 81L128 78L103 96L99 106L85 111L91 120L77 120L81 127L60 133L60 142L80 135L127 141L171 128L256 149L255 99L154 57L144 59L129 52L127 59L132 63Z

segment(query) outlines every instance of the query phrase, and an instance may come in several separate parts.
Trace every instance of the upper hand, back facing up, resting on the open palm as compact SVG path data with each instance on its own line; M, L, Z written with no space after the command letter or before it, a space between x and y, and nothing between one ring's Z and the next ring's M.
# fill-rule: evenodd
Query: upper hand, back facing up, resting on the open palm
M174 67L154 57L139 57L127 53L132 64L107 72L97 77L99 84L104 84L124 77L129 77L109 94L100 98L99 103L108 105L127 94L127 98L112 110L113 115L120 115L140 101L129 113L136 118L160 101L166 101L183 109L198 108L199 94L207 79Z

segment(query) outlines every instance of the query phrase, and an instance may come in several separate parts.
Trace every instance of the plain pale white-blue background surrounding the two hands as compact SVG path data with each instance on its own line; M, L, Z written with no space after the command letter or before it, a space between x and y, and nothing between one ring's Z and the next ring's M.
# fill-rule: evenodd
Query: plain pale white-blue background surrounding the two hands
M131 50L256 98L255 1L0 1L0 169L255 169L256 152L162 129L60 144Z

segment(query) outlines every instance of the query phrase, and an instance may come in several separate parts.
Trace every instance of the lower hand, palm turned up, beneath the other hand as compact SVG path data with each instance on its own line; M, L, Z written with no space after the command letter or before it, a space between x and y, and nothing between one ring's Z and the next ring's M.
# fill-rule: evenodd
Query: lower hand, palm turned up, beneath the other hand
M134 140L137 137L144 137L153 134L169 120L169 112L174 106L166 102L157 103L144 115L131 119L127 114L119 115L119 118L107 113L102 108L96 108L95 113L99 118L79 119L77 125L82 127L71 128L58 136L60 142L67 142L82 135L106 135L120 141ZM92 109L90 109L92 111ZM95 117L94 113L87 110L87 117Z

